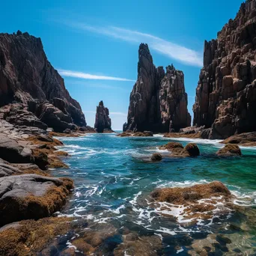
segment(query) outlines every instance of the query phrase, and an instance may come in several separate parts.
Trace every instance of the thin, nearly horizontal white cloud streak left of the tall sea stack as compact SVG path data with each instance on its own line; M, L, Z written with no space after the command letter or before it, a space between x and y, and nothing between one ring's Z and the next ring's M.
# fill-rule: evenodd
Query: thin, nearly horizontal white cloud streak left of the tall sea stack
M58 69L58 73L60 73L61 76L75 77L75 78L79 78L79 79L112 80L112 81L135 82L135 80L132 80L132 79L124 79L124 78L115 77L115 76L97 76L97 75L92 75L92 74L83 73L83 72L79 72L79 71L73 71L73 70Z

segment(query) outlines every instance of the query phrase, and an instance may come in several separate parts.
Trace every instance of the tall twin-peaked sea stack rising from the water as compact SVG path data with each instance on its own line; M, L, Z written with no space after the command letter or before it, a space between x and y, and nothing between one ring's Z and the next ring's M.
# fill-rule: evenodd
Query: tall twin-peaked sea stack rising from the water
M147 44L138 49L138 79L129 97L124 131L174 132L191 125L184 75L174 66L155 67Z

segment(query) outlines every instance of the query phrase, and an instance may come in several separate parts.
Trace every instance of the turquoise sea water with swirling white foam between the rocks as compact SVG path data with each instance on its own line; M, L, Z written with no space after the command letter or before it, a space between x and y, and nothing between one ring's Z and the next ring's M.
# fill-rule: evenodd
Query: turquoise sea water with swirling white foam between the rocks
M230 251L255 255L255 148L242 147L242 157L223 158L215 155L222 147L219 141L175 139L183 145L195 141L201 156L166 157L162 162L153 163L148 161L151 154L161 152L165 156L168 152L158 150L158 146L173 139L161 135L119 138L115 134L59 139L64 142L59 149L70 154L64 159L70 168L52 172L55 176L71 177L75 182L73 195L59 215L74 216L98 228L106 224L114 226L119 242L105 255L112 255L123 242L124 230L139 236L158 236L162 246L156 255L187 255L193 241L209 234L227 234L232 240ZM235 203L246 206L246 210L225 216L216 213L206 221L183 222L182 218L162 215L150 204L150 192L156 187L192 186L213 180L225 183L237 196Z

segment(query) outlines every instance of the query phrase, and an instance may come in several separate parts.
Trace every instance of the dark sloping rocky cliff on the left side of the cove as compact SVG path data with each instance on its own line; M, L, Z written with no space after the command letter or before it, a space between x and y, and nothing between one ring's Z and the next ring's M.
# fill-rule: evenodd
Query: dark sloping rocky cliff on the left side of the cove
M37 126L42 121L58 132L74 129L73 124L86 126L79 103L47 60L40 38L20 31L0 34L0 107L13 102L25 104L36 116L31 115L30 124L36 119Z

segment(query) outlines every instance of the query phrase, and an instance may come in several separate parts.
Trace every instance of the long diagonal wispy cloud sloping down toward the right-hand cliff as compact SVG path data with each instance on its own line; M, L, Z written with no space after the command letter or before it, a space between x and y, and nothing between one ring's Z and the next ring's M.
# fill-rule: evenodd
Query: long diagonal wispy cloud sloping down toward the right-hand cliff
M202 67L203 57L201 52L180 46L152 34L146 34L139 31L133 31L126 28L115 26L92 26L81 22L64 22L65 25L83 31L91 31L96 34L102 34L115 39L124 40L129 43L148 43L150 49L166 55L168 58L175 59L184 64Z

